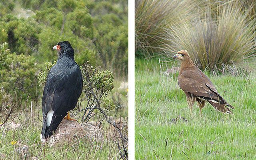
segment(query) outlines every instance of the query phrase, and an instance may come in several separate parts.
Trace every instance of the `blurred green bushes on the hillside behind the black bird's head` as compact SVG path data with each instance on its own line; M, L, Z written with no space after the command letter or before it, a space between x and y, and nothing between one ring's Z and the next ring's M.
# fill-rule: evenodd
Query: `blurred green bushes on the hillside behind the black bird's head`
M126 0L17 0L14 6L9 1L0 4L10 4L0 17L0 42L8 42L16 54L33 56L40 64L54 62L57 55L52 47L68 40L80 66L89 61L111 70L118 78L127 78ZM34 16L17 18L15 14L26 11L20 7L32 10Z

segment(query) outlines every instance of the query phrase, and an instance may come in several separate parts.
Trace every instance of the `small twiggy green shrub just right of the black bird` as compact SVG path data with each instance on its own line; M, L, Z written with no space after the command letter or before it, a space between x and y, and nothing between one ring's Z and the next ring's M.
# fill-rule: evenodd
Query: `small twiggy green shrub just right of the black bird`
M83 92L87 103L84 108L82 121L87 122L92 117L92 112L104 112L107 114L115 108L112 99L107 98L114 88L114 76L109 70L99 71L88 62L81 67L83 76ZM97 111L98 110L98 111Z

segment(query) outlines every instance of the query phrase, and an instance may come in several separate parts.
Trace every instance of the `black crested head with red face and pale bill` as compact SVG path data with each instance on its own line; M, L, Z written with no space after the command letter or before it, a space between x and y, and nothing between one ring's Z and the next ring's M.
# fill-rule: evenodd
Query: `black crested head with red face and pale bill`
M74 49L68 41L58 42L52 50L58 50L58 57L68 57L74 60Z

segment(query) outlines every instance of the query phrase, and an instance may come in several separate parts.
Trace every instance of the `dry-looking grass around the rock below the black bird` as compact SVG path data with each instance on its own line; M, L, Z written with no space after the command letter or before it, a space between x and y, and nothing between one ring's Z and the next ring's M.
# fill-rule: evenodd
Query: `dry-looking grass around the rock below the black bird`
M41 110L33 112L23 112L21 116L15 118L15 121L22 125L21 128L12 130L0 130L0 153L6 154L6 159L19 159L19 154L14 152L15 148L23 145L29 146L31 156L37 156L39 159L56 160L56 159L99 159L114 158L118 155L118 148L114 137L107 137L104 132L104 140L90 141L86 138L80 138L74 142L65 142L56 146L43 146L40 141L41 133ZM108 125L108 124L106 124ZM16 144L11 144L16 141ZM119 155L118 155L119 156ZM0 158L1 159L1 158Z

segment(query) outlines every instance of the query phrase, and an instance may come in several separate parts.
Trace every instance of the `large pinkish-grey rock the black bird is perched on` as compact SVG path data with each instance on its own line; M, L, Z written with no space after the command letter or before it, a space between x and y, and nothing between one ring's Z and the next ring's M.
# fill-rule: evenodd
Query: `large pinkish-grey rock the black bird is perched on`
M51 136L48 142L50 146L54 146L58 142L72 142L78 138L102 140L103 136L98 126L87 123L79 124L76 121L63 119L54 136Z

